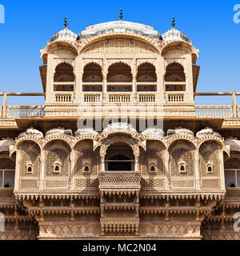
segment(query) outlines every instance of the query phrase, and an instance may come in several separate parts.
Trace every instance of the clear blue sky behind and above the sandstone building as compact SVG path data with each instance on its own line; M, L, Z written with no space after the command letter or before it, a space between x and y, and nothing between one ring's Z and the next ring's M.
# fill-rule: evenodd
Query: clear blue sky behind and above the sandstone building
M40 49L63 28L79 34L86 26L118 20L150 24L160 34L170 29L184 32L200 50L198 91L240 91L240 23L234 23L238 1L3 1L5 24L0 24L0 91L42 92L38 66ZM230 97L198 97L198 104L231 104ZM43 104L43 98L8 98L10 105ZM238 96L240 105L240 96Z

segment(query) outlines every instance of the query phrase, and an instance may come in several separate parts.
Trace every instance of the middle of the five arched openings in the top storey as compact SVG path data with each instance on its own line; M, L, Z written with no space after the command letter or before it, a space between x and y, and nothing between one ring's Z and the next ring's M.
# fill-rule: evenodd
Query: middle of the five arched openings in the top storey
M107 74L107 90L114 92L132 91L132 85L127 83L133 82L130 66L118 62L111 65ZM125 85L123 85L125 83Z

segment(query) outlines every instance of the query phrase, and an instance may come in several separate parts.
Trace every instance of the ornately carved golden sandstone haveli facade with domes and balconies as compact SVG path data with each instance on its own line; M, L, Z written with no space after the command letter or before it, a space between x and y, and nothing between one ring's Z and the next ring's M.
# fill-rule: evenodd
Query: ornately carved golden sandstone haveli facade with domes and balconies
M240 238L238 93L195 105L199 52L174 25L65 21L41 50L44 92L1 94L0 239Z

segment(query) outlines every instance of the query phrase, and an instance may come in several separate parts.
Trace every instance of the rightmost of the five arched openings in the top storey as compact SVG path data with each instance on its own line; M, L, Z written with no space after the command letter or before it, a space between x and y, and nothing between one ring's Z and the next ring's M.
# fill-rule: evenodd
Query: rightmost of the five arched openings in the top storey
M179 63L172 63L166 67L166 91L185 91L186 76L184 68Z

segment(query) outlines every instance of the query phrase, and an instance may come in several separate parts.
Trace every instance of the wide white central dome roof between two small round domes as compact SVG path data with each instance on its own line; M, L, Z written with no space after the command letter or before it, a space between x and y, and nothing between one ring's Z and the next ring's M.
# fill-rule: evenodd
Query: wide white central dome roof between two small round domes
M151 26L146 26L135 22L105 22L99 23L94 26L88 26L80 33L80 39L90 38L98 34L110 32L130 32L135 34L146 35L149 38L159 39L158 31L154 30Z

